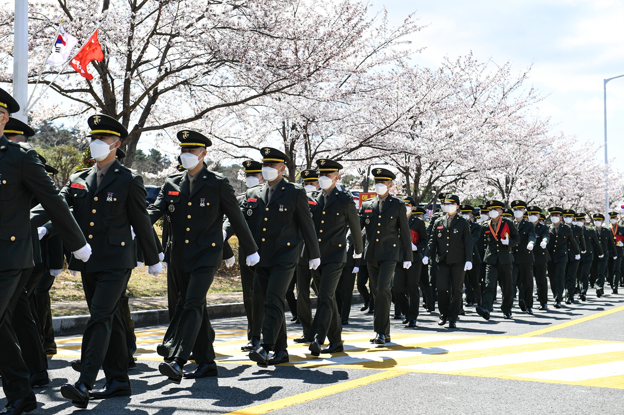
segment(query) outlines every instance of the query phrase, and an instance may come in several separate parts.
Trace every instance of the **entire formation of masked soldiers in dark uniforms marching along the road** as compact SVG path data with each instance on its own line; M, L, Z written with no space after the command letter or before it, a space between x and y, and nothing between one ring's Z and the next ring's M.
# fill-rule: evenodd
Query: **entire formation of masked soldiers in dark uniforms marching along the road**
M260 161L246 160L246 193L236 196L228 178L204 163L210 139L182 130L178 172L168 176L153 204L137 171L120 163L119 146L128 131L107 115L91 115L92 168L72 174L62 189L51 179L54 167L27 143L34 131L10 117L19 105L0 89L0 374L7 397L3 414L37 408L33 388L49 384L46 354L56 345L49 313L49 289L63 267L79 272L89 306L79 372L61 394L76 408L90 399L132 394L128 370L135 365L134 327L125 290L137 263L157 275L168 265L171 322L158 370L173 383L217 376L206 294L225 259L234 262L228 239L238 237L248 343L242 346L258 366L289 361L286 298L295 285L299 320L313 356L344 351L341 337L354 285L363 294L362 312L374 314L371 343L391 341L390 318L417 327L422 307L439 309L439 325L456 327L475 307L485 320L494 313L497 286L501 310L512 318L517 306L534 313L534 281L539 310L587 300L588 287L605 295L605 282L618 292L624 231L618 215L548 208L550 226L537 206L496 200L477 208L441 193L438 209L391 194L396 176L373 169L377 196L356 207L337 186L337 161L321 158L301 171L302 184L283 178L289 157L260 149ZM163 218L162 244L154 224ZM563 221L562 221L563 219ZM370 292L366 289L366 282ZM466 300L464 302L464 287ZM310 291L318 303L312 313ZM294 295L293 295L294 297ZM183 368L190 360L193 371ZM104 388L94 389L104 370Z

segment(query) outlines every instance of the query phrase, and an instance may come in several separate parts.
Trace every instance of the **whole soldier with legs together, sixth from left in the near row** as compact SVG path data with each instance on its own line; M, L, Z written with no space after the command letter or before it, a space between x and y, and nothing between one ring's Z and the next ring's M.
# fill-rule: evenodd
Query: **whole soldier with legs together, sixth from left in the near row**
M364 260L370 282L376 285L377 290L373 319L376 336L371 343L385 345L390 341L392 275L399 260L399 250L403 252L403 267L409 269L412 249L405 204L389 193L392 180L396 179L395 174L385 168L374 168L373 179L377 196L362 203L359 217L361 226L366 228L368 241Z

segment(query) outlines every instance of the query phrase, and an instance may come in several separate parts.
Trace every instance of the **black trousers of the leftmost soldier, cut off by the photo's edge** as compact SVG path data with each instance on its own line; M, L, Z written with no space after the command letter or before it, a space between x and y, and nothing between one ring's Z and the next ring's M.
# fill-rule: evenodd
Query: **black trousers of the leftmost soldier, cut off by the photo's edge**
M19 341L11 324L9 303L17 292L22 269L0 271L0 375L7 401L31 394L31 373L22 358ZM19 292L18 292L19 293Z

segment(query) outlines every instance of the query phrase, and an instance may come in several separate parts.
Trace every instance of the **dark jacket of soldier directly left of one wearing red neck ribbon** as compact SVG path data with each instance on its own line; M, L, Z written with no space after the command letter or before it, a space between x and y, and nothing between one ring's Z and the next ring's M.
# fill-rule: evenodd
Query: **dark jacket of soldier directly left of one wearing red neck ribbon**
M436 219L431 229L431 236L425 255L433 257L436 255L436 262L444 261L447 264L464 264L472 262L472 234L468 221L456 214L448 224L447 216Z

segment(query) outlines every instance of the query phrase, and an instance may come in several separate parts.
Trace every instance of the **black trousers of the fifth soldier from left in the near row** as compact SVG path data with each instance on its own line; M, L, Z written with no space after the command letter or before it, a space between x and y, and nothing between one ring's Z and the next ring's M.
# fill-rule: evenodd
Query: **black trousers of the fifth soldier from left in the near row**
M308 338L315 338L321 345L325 338L329 343L342 341L343 326L340 323L338 303L336 302L336 287L342 275L344 262L329 262L321 264L312 270L314 286L317 287L318 302L316 303L316 313Z

